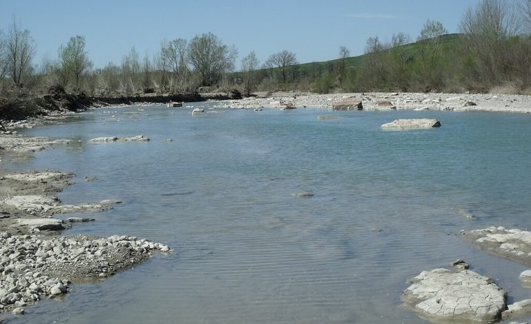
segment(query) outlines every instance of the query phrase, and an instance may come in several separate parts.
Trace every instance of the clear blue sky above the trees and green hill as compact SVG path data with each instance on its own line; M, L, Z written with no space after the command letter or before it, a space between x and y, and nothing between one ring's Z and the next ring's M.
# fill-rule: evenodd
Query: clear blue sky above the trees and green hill
M241 58L254 50L263 63L290 50L301 63L327 61L344 45L363 54L365 41L404 32L417 38L427 19L457 32L463 13L479 0L0 0L0 29L15 16L37 43L35 64L57 57L59 45L77 34L96 68L121 63L134 45L152 57L163 39L192 39L212 32L234 45Z

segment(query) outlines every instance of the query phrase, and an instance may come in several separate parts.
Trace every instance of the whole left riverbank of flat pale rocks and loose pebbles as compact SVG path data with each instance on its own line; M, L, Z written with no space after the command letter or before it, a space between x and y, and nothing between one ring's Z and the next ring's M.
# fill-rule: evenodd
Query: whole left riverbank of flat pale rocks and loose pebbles
M30 159L32 152L70 145L69 140L26 137L14 130L52 123L64 116L10 123L10 129L0 133L0 314L23 314L28 305L42 298L66 294L72 283L104 280L143 263L154 252L170 251L167 245L127 235L61 236L61 231L72 224L92 219L62 220L54 215L103 212L121 201L65 205L57 193L73 184L74 174L58 170L8 172L1 168L2 163Z

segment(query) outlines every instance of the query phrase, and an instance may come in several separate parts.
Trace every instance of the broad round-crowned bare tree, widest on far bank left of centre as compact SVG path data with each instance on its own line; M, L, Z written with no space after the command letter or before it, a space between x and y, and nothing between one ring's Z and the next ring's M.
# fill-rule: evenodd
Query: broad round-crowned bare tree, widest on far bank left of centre
M211 32L197 35L188 45L188 61L199 74L201 85L213 85L223 74L234 70L238 51L229 47Z

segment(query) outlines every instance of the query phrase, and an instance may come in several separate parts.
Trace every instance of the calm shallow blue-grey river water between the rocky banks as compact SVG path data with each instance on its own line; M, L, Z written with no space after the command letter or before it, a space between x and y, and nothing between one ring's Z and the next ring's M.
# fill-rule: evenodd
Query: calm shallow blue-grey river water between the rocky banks
M531 227L528 114L199 105L208 113L91 110L27 132L75 142L10 168L74 172L63 203L123 200L63 234L131 234L174 251L8 323L425 323L400 307L406 281L453 259L496 278L510 301L531 298L525 266L457 235ZM381 130L395 118L442 127ZM88 142L137 134L151 141Z

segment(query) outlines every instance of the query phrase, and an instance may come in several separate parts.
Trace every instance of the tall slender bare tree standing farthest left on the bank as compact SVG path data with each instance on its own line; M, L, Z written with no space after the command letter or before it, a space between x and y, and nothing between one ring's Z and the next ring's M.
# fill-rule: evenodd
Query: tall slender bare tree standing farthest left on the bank
M32 69L36 46L29 30L21 30L13 18L6 38L8 74L15 85L21 87L22 80Z

